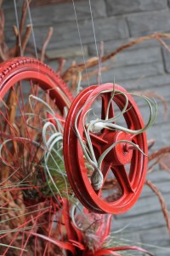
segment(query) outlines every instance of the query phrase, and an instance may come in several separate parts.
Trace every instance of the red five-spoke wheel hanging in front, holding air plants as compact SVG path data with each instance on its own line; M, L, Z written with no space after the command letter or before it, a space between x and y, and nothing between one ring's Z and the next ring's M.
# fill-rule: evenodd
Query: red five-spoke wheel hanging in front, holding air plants
M99 160L99 156L106 148L109 148L113 143L124 140L139 145L139 148L144 152L144 154L141 154L139 150L133 150L132 145L128 143L117 143L103 160L101 172L104 177L104 183L99 190L95 190L89 178L93 172L90 172L85 166L82 147L75 131L75 121L78 114L77 129L83 141L87 144L83 130L83 125L88 124L88 121L86 123L85 115L90 108L94 107L94 102L97 98L98 101L100 99L100 102L97 103L97 109L100 112L99 119L105 119L112 90L113 84L91 86L82 90L71 104L65 120L64 156L65 168L71 187L82 204L93 212L118 214L127 212L130 207L133 207L144 185L147 166L147 158L144 156L144 154L147 154L145 132L135 136L126 131L109 131L106 129L95 134L90 133L97 160ZM120 93L123 92L128 99L127 111L122 117L124 124L131 130L144 128L143 119L133 97L117 84L115 84L115 90L116 93L109 109L109 118L111 119L116 115L116 108L121 111L124 108L126 104L125 96ZM113 184L110 189L111 194L105 195L104 189L108 182L107 178L110 175L114 177L113 183L115 185Z

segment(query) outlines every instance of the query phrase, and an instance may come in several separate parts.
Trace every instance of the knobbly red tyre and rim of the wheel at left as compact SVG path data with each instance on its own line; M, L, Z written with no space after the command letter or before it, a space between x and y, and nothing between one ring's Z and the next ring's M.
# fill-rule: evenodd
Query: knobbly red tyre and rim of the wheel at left
M1 98L3 99L8 90L22 79L39 81L42 90L49 90L49 96L58 101L57 105L61 112L65 106L70 108L74 98L65 82L48 65L31 57L13 58L0 64Z

